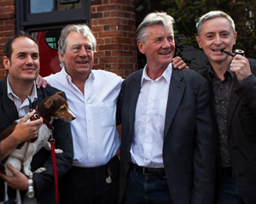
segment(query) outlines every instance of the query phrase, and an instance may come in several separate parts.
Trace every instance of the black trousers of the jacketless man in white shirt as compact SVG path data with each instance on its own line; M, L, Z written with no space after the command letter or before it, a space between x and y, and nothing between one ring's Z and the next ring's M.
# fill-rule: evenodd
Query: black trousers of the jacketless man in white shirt
M118 156L101 167L72 167L61 178L60 204L116 204L118 185Z

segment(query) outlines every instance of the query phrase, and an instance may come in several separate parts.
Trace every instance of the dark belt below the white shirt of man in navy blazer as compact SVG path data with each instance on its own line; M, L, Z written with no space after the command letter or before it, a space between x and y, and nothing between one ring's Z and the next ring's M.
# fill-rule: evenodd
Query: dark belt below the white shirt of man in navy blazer
M131 163L131 169L137 173L142 173L145 176L154 176L154 177L165 177L164 168L151 168L151 167L139 167L137 164Z

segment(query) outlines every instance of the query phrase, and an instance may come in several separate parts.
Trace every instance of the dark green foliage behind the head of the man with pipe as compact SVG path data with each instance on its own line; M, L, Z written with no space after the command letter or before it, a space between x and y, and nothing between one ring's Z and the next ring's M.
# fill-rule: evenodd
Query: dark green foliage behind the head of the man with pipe
M198 48L195 24L199 17L211 10L222 10L235 21L236 48L243 49L248 58L256 59L255 0L163 0L161 3L175 20L176 35L182 36L178 38L177 50L191 45Z

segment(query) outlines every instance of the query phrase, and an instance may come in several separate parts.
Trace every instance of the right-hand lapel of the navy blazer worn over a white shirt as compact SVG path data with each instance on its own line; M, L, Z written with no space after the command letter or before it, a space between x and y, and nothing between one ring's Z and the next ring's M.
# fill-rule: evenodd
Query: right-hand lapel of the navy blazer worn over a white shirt
M166 123L164 131L164 139L168 132L169 127L171 126L172 120L176 114L178 105L183 98L183 93L185 90L185 84L181 82L183 79L182 71L177 71L176 69L172 70L172 78L169 88L169 95L166 107Z

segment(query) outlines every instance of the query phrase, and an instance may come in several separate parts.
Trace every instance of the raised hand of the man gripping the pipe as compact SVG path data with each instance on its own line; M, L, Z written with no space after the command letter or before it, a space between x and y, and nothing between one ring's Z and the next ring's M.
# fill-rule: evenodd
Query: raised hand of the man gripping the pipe
M230 71L236 73L236 77L239 82L252 74L248 59L240 54L236 54L236 56L233 58L230 65Z

